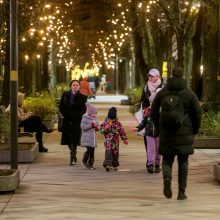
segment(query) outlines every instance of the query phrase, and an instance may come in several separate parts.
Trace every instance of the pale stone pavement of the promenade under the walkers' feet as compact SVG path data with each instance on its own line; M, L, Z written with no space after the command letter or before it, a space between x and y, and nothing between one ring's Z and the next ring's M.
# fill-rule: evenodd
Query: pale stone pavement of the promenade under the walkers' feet
M95 104L100 121L112 104ZM0 194L0 219L32 220L185 220L220 219L220 185L213 177L213 165L220 149L196 149L190 157L187 195L178 201L177 164L173 167L173 198L162 194L162 175L145 169L143 140L131 131L136 120L127 106L118 107L118 116L129 138L121 142L120 169L107 173L102 167L103 137L98 134L95 170L81 164L84 149L78 147L78 163L69 166L69 150L59 145L60 133L45 136L48 153L33 163L19 164L20 187ZM10 168L0 164L0 168Z

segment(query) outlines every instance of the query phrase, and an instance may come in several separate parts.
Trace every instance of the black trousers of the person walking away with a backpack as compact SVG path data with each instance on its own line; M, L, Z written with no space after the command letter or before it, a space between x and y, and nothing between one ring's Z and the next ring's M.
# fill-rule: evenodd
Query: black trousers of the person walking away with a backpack
M163 179L172 180L172 166L175 155L163 155L162 170ZM188 154L177 155L178 162L178 185L179 191L185 192L188 175Z

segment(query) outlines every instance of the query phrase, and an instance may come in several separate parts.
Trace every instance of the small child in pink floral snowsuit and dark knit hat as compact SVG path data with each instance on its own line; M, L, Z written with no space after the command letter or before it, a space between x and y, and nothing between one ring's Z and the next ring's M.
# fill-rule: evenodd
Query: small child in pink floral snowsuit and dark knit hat
M101 133L105 137L105 159L103 166L106 171L117 170L119 167L119 137L124 144L128 144L125 129L117 118L117 109L112 107L108 111L108 116L101 124Z

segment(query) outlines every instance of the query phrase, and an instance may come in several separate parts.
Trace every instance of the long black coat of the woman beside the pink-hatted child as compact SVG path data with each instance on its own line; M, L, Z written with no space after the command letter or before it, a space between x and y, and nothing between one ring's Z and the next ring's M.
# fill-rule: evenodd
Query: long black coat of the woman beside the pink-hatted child
M86 112L86 100L87 96L82 95L80 92L75 94L72 101L71 91L63 93L59 105L60 113L64 117L61 145L80 145L80 123L82 115Z

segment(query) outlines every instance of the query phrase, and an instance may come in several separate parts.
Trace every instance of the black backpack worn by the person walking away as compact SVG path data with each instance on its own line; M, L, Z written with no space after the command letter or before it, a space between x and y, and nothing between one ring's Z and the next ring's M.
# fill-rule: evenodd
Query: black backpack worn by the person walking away
M169 130L178 130L186 116L179 92L169 91L161 102L160 126Z

